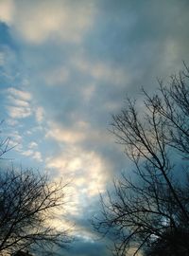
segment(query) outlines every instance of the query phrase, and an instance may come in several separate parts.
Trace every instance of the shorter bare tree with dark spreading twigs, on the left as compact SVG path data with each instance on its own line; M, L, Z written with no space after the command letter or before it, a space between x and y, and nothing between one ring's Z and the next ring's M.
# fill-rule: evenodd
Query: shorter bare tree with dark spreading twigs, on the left
M2 141L4 155L9 150L9 140ZM46 174L14 168L1 170L0 255L28 248L65 247L71 241L68 229L58 230L53 225L57 210L63 210L65 190L62 181L50 182Z

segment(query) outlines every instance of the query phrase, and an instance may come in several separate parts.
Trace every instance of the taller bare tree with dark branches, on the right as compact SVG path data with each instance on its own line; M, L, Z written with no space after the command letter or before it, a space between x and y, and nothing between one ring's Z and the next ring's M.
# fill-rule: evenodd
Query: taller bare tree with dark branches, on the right
M161 255L157 247L162 242L169 255L189 254L182 239L189 236L188 79L185 66L179 76L171 77L169 86L159 81L157 94L143 90L142 112L136 101L128 100L112 117L112 133L135 166L134 178L123 174L114 182L114 192L101 196L102 214L94 220L95 229L111 233L115 255L126 255L129 249L133 255L152 255L149 248L156 251L153 255Z

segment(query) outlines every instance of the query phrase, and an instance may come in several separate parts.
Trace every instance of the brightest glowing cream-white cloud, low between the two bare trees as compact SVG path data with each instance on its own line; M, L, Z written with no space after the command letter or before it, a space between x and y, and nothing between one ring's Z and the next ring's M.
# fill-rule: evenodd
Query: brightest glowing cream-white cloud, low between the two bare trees
M74 146L56 157L47 158L46 167L58 170L60 176L71 180L72 204L66 210L73 215L82 214L89 198L92 200L99 192L104 192L110 169L97 153Z

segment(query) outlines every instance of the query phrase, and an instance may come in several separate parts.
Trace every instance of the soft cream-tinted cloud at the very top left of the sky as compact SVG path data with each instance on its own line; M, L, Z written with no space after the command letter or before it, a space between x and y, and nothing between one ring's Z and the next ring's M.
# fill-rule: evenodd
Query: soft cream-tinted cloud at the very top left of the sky
M48 38L80 42L85 31L93 25L95 10L92 1L69 0L5 0L1 7L0 19L27 42L35 44Z

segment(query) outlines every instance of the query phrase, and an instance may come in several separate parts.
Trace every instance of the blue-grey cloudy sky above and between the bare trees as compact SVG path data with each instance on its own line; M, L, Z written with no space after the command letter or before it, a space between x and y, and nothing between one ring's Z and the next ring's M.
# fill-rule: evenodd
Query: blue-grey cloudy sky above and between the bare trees
M2 136L14 165L70 182L63 255L111 255L89 220L130 172L112 114L189 64L188 13L188 0L0 0Z

